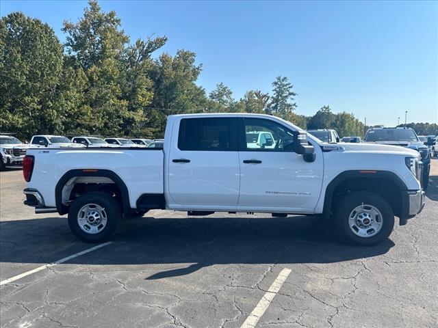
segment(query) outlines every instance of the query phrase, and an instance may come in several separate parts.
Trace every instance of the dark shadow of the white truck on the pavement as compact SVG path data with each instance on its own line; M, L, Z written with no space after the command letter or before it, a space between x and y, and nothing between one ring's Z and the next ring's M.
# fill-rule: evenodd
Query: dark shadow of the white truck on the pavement
M69 264L190 264L146 279L188 275L213 264L333 263L387 253L387 239L374 247L337 241L330 223L315 217L187 217L127 220L112 245ZM0 226L0 261L49 263L83 251L64 217L6 221ZM164 265L168 268L168 265Z

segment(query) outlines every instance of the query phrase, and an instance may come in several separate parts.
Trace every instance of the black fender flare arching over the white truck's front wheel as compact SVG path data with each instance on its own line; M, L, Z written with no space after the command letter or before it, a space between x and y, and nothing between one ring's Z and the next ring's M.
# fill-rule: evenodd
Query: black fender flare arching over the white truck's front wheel
M374 170L350 170L350 171L344 171L335 176L333 180L329 183L329 185L326 187L325 195L324 195L324 209L322 211L322 215L325 219L329 219L330 212L331 212L331 204L333 201L333 192L335 191L336 187L339 186L342 182L345 180L348 180L350 178L378 178L378 179L386 179L390 180L391 182L394 182L396 184L398 190L406 191L407 186L404 184L404 182L394 173L390 171L374 171ZM404 193L402 193L402 197L404 197ZM407 208L409 204L409 200L403 200L401 206L402 206L402 213L405 213L406 210L404 210L404 207Z

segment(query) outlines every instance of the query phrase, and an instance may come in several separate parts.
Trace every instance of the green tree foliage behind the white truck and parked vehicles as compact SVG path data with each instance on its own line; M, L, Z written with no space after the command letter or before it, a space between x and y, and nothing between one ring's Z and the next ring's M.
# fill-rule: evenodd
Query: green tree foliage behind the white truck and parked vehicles
M153 55L166 36L131 43L116 12L103 12L95 0L77 21L64 21L62 31L64 45L38 19L20 12L1 18L1 131L22 139L36 133L155 138L163 136L169 114L246 112L277 115L301 128L363 134L352 114L328 106L311 117L296 113L287 77L276 77L271 92L248 90L238 100L224 83L207 95L196 84L203 69L196 53Z

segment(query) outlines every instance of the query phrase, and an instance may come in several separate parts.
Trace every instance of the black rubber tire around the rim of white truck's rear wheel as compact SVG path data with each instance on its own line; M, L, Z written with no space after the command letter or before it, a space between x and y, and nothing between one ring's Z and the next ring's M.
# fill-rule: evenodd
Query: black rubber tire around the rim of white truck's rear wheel
M106 226L95 234L86 232L79 226L78 213L86 204L96 204L105 210ZM101 243L107 241L114 235L121 216L120 204L115 197L101 191L92 191L81 195L81 197L77 198L77 200L73 202L73 205L70 206L70 210L68 210L68 226L70 226L70 230L77 238L81 239L81 241L85 241L86 243Z

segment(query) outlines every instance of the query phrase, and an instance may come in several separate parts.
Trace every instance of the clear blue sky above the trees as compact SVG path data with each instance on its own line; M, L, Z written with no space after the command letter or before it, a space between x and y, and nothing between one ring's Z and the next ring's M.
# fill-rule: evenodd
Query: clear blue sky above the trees
M278 75L295 86L297 113L323 105L368 124L438 122L437 1L101 1L131 40L168 36L162 51L196 52L207 92L223 82L240 98L271 90ZM77 20L86 1L1 1L49 23Z

